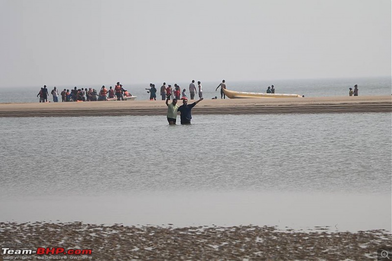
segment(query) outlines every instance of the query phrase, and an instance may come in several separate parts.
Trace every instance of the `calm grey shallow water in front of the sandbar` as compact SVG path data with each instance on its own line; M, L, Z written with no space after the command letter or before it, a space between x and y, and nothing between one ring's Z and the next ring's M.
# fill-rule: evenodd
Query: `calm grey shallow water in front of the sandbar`
M0 221L391 231L390 113L0 122Z

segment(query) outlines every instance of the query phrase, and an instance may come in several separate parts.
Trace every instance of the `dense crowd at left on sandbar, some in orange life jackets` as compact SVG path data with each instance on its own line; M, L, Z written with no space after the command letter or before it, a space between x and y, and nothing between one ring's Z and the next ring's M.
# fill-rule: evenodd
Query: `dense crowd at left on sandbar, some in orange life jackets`
M123 88L123 85L120 82L117 82L114 89L112 86L109 87L109 90L106 89L104 85L102 85L99 92L97 92L94 88L81 88L77 89L74 87L73 90L64 89L60 94L58 93L57 87L53 87L50 94L53 96L53 102L58 102L59 95L61 96L62 102L67 101L102 101L107 100L108 98L116 98L117 100L124 100L124 97L132 96L127 90ZM48 102L48 88L44 85L43 88L37 94L37 97L40 98L40 102ZM49 101L50 102L50 101Z

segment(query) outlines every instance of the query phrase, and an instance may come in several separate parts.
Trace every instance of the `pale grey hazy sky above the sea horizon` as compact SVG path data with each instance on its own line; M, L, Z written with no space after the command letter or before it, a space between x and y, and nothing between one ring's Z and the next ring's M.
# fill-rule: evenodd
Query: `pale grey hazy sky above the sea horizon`
M0 0L0 87L391 75L391 0Z

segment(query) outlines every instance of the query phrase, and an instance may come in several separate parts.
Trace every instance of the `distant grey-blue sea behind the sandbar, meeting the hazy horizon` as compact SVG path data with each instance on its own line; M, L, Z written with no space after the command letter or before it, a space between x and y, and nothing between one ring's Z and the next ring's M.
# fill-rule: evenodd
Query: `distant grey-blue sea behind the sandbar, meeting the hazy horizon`
M197 82L197 79L195 79ZM116 80L117 82L117 80ZM160 97L160 87L163 82L156 82L155 87L157 88L157 99ZM181 91L186 89L186 94L189 94L189 82L177 82L181 87ZM215 96L220 98L220 90L216 88L220 82L203 82L203 97L211 99ZM40 88L42 86L30 86L30 87L1 87L0 88L0 103L1 102L39 102L37 97ZM174 83L167 82L174 86ZM357 84L359 88L359 95L391 95L392 85L391 77L371 77L371 78L338 78L338 79L294 79L294 80L261 80L261 81L237 81L231 82L226 81L227 89L233 91L242 92L254 92L254 93L265 93L267 87L274 85L276 94L298 94L305 95L305 97L322 97L322 96L347 96L348 88L354 89L354 85ZM98 92L102 85L107 88L112 86L114 88L115 83L102 83L102 84L91 84L91 85L73 85L73 86L61 86L57 85L58 92L61 93L63 89L72 90L74 86L78 89L81 88L94 88ZM141 84L126 84L123 83L124 89L129 91L132 95L137 96L137 100L148 100L149 94L146 88L149 88L149 83ZM52 95L50 91L53 86L48 86L48 101L52 101ZM196 95L196 97L198 97ZM61 101L61 97L60 97Z

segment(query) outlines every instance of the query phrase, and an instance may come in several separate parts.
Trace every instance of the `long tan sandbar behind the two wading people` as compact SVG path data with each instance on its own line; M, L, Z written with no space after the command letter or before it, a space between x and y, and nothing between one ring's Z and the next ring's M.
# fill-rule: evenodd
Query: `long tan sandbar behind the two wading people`
M392 96L205 99L192 110L193 114L354 112L392 112ZM166 113L167 107L162 100L0 103L0 117L143 116Z

